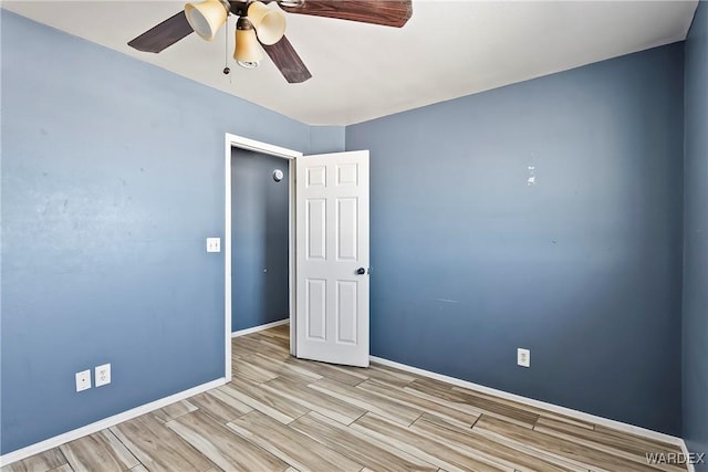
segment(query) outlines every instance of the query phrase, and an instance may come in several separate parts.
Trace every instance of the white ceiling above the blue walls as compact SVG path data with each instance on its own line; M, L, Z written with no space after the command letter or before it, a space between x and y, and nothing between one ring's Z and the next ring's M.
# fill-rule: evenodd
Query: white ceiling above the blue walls
M288 84L268 60L243 70L230 59L232 72L223 75L223 29L211 43L191 34L159 54L126 45L184 8L180 1L2 1L2 8L311 125L360 123L680 41L696 6L413 0L403 29L287 13L287 35L313 75Z

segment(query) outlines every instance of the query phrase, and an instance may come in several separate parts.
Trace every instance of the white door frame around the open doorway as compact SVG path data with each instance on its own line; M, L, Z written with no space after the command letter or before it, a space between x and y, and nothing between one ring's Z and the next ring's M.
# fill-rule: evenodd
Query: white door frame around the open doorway
M226 381L231 381L231 149L240 148L253 150L256 153L267 154L269 156L282 157L288 159L290 170L290 195L289 195L289 240L290 251L288 256L289 264L289 300L290 300L290 353L295 355L295 343L293 329L295 328L295 158L302 156L302 153L287 149L284 147L273 146L267 143L257 141L227 133L226 134L226 220L223 232L223 316L225 316L225 335L226 335L226 360L225 377Z

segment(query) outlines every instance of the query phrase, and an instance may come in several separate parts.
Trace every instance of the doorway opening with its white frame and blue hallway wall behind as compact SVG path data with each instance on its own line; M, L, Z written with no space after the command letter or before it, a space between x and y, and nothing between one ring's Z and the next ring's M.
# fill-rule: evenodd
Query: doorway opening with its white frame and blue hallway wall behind
M227 381L231 380L233 332L243 334L250 328L272 323L268 321L271 318L290 319L290 353L295 355L292 335L295 328L294 159L300 156L302 153L226 135ZM236 189L239 183L239 189ZM239 193L241 198L235 201ZM241 218L235 220L235 214ZM244 247L233 248L235 241ZM285 292L279 293L281 290ZM236 313L235 295L238 296L236 306L239 308Z

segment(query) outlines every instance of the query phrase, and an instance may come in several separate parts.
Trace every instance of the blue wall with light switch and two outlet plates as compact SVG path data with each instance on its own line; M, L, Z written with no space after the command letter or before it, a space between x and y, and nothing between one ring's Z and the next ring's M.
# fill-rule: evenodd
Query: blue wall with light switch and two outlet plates
M310 127L1 10L0 452L223 375L223 135ZM76 394L74 373L113 365Z

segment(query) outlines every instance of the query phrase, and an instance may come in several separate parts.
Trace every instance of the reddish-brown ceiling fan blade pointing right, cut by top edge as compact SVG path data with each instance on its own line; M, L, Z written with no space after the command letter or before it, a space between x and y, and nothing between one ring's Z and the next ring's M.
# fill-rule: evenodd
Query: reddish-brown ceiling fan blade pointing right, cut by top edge
M339 18L400 28L413 14L410 0L304 0L299 7L288 7L279 2L289 13Z

